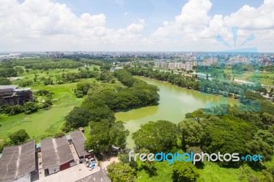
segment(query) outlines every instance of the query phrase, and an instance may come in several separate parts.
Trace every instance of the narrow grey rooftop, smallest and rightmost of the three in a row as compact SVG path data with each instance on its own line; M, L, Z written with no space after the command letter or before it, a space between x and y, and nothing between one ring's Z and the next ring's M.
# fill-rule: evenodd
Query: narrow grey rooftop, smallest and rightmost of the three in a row
M84 137L82 131L71 132L71 138L73 140L73 144L76 148L78 156L84 157L84 155L88 155L88 153L85 150L86 138Z

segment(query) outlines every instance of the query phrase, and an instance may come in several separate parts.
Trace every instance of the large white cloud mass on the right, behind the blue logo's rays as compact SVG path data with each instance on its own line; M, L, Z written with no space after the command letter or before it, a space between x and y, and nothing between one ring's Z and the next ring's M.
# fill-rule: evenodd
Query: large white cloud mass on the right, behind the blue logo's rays
M238 27L238 42L244 41L251 33L256 34L256 44L261 51L273 50L265 44L274 44L274 1L265 0L259 8L244 5L240 10L223 17L209 15L212 3L209 0L190 0L186 3L181 14L174 21L164 21L151 34L149 41L168 42L168 47L179 47L175 50L191 51L221 51L222 45L216 42L216 36L221 35L229 44L233 44L232 27ZM176 41L177 39L177 41ZM191 49L188 50L188 47ZM226 49L226 47L223 47Z

